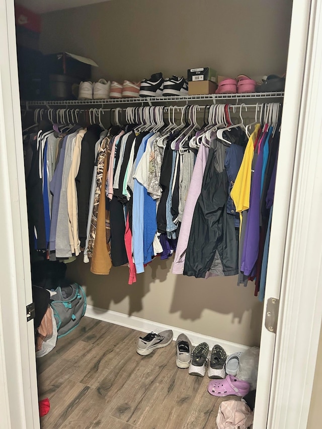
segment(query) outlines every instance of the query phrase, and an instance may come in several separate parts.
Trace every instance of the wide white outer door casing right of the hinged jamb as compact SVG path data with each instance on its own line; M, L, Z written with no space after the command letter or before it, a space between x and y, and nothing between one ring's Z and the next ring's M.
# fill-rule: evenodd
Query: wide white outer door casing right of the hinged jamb
M274 429L306 427L321 326L321 30L322 2L312 0L267 425Z

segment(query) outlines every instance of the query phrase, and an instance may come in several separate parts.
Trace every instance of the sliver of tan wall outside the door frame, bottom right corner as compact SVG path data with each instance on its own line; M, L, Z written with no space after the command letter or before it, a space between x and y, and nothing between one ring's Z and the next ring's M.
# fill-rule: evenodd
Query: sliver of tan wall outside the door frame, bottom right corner
M322 397L322 329L316 358L316 367L314 375L313 390L311 396L311 405L307 420L307 429L317 429L321 427L321 397Z

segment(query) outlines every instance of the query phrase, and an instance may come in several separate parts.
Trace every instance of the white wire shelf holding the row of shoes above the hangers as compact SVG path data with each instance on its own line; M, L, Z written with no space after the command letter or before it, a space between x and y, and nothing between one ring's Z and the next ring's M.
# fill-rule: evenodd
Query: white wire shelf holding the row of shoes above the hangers
M109 100L48 100L48 101L25 101L22 106L62 106L62 105L106 105L106 104L140 104L140 103L153 103L153 102L189 102L194 100L243 100L243 99L274 99L283 98L284 92L273 93L250 93L250 94L209 94L209 95L196 95L196 96L170 96L170 97L138 97L138 98L124 98L124 99L109 99Z

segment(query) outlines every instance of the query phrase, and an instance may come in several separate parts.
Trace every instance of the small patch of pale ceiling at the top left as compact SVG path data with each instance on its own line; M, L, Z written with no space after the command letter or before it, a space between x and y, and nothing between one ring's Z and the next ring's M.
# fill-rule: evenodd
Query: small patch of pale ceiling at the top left
M68 0L66 2L66 0L15 0L15 3L37 14L44 14L46 12L77 8L78 6L93 5L94 3L106 1L107 0Z

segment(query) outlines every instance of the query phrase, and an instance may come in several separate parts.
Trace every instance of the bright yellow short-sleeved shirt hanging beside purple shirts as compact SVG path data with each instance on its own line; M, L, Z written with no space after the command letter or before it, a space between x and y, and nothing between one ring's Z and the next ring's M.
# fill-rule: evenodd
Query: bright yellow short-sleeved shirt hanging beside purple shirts
M243 221L243 215L241 212L250 208L250 195L251 195L251 180L252 180L252 162L254 157L254 143L257 139L258 132L260 130L260 124L255 125L255 130L250 136L243 161L235 180L235 183L230 192L230 197L234 202L236 207L236 212L240 216L240 227L239 232L241 231L241 222Z

